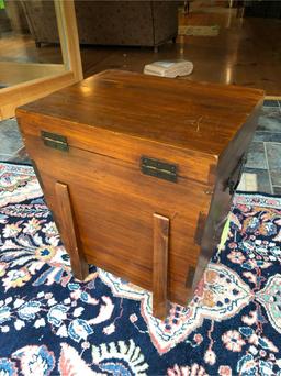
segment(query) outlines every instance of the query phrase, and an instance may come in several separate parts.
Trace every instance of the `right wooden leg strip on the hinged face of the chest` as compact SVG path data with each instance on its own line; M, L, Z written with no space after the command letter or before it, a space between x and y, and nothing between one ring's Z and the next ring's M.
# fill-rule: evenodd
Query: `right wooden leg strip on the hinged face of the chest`
M168 314L169 225L167 217L154 214L153 313L160 320Z

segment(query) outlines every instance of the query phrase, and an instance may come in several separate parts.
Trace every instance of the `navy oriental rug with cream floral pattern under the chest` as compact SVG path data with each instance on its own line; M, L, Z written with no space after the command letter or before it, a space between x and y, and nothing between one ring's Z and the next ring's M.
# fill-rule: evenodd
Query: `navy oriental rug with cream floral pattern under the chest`
M76 280L30 166L0 164L0 375L280 375L281 198L236 195L191 303Z

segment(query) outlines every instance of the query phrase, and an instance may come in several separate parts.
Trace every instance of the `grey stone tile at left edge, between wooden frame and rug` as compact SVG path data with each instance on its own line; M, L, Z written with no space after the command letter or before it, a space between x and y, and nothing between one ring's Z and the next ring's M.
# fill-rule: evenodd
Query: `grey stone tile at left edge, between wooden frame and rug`
M21 133L14 119L0 122L0 154L13 155L23 146Z

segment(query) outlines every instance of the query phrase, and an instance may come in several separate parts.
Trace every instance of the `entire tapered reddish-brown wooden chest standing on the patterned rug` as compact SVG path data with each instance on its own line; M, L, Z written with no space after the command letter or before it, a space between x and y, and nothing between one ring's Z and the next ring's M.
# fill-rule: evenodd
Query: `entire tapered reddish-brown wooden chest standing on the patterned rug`
M16 111L75 275L187 305L220 241L263 92L106 70Z

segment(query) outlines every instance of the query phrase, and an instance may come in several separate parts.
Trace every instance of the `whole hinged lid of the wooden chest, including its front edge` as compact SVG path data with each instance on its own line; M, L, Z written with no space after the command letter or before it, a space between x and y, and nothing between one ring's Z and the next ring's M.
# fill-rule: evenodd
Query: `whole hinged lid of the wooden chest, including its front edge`
M16 115L25 136L50 132L67 141L46 137L45 144L134 164L156 158L178 165L180 177L212 185L211 170L262 98L256 89L105 70L19 108Z

